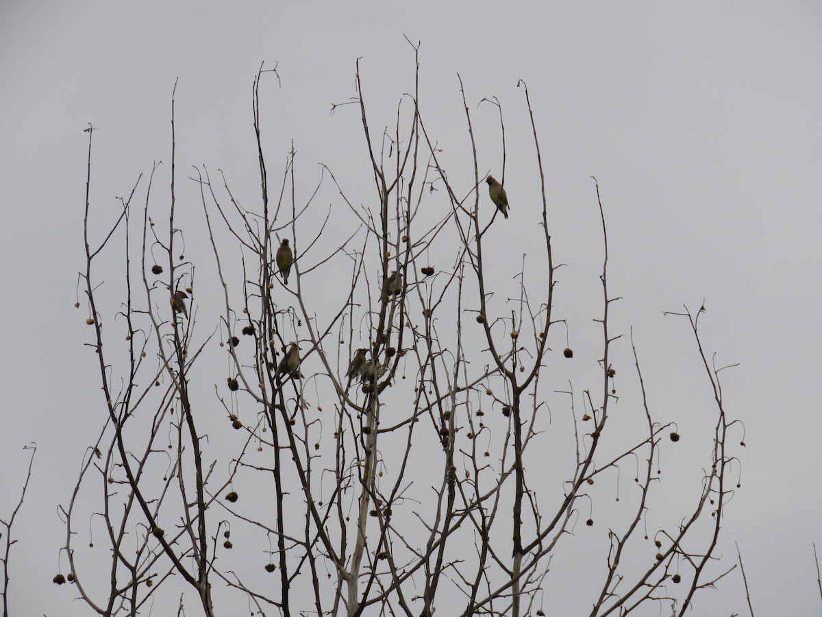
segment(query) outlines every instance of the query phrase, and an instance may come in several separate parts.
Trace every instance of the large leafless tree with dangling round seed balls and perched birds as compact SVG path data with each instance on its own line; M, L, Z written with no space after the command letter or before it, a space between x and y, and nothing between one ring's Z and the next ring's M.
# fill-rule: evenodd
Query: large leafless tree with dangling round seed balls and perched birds
M627 523L609 529L604 561L591 559L590 615L627 615L644 605L684 615L697 591L735 567L719 568L713 557L737 461L727 451L735 422L723 406L722 369L700 341L702 310L673 314L688 320L713 387L713 452L690 509L676 528L656 532L649 552L631 540L649 539L659 451L663 439L679 436L655 419L631 339L644 428L615 448L624 438L612 430L621 423L612 407L622 335L611 327L618 298L608 288L595 180L602 338L598 358L587 360L598 362L598 378L577 392L549 369L573 357L575 323L556 315L561 264L524 82L543 252L518 261L496 248L499 226L516 225L516 206L504 221L486 197L488 173L479 168L461 79L470 175L450 171L423 121L419 64L394 127L375 132L358 63L358 98L348 109L358 108L363 123L368 205L353 197L363 178L338 178L330 166L303 188L293 144L270 185L260 97L266 79L279 83L276 68L261 67L252 89L259 200L244 206L229 179L213 178L205 166L187 180L198 188L214 258L205 278L219 281L214 290L195 284L196 264L182 252L195 242L178 224L173 102L169 195L155 197L156 164L96 240L88 129L80 280L107 413L63 510L63 552L81 598L99 615L136 615L155 601L167 613L173 598L182 614L191 592L205 615L238 603L260 615L544 615L551 600L541 590L553 559L578 540L580 520L593 526L591 485L633 466L637 489L621 504L630 508ZM482 104L499 114L504 185L505 114L496 99ZM329 189L332 206L323 210L317 196ZM115 247L125 300L112 320L95 267ZM450 262L433 267L432 255ZM502 260L515 272L512 297L495 293L508 281L501 281ZM203 335L200 298L213 300L215 292L218 322ZM547 405L555 392L567 401L571 461L544 446L556 431ZM560 483L543 477L547 466L563 465ZM88 520L104 546L80 552ZM107 575L81 567L80 554L108 560ZM218 587L226 591L216 594Z

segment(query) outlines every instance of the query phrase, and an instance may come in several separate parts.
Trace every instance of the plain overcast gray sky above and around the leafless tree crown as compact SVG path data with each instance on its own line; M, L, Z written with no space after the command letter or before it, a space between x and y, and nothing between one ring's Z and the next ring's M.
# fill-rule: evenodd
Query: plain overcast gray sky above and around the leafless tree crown
M393 123L397 102L413 88L404 34L422 42L421 107L447 160L470 156L457 73L477 122L480 173L496 172L501 155L496 109L477 105L492 95L503 104L512 206L499 242L518 264L529 251L528 204L538 209L533 141L516 87L520 78L528 83L557 258L569 264L558 309L569 315L598 299L590 176L598 178L611 290L624 298L614 325L626 334L634 326L660 420L676 420L683 442L701 431L693 451L700 460L709 434L689 415L692 404L709 410L699 358L686 322L662 313L683 304L695 310L704 298L703 341L718 365L739 363L723 373L723 385L728 411L746 426L747 447L737 448L742 487L727 509L722 552L731 565L739 544L757 613L778 615L789 604L792 615L819 614L812 542L822 543L822 420L812 392L822 343L822 5L168 4L12 0L0 7L7 290L0 516L16 503L27 462L21 448L39 445L15 529L17 614L86 614L72 603L71 588L48 585L65 540L57 504L66 503L104 413L93 354L83 347L86 314L72 306L83 266L87 123L99 128L95 206L111 213L138 174L169 160L169 100L179 77L181 179L191 165L223 169L250 205L259 188L252 78L261 61L279 63L282 88L271 80L263 89L269 169L281 173L293 139L306 187L322 162L338 177L360 174L365 186L349 180L348 188L364 202L371 175L358 114L351 107L332 116L330 104L355 95L354 63L362 58L372 126ZM192 185L181 190L181 200L195 194ZM184 216L200 216L196 201ZM595 308L584 310L593 317ZM588 332L585 320L572 332ZM668 464L674 476L677 461ZM682 476L681 485L679 476L666 480L671 499L699 486L699 474ZM742 600L737 570L719 591L704 592L697 612L744 612Z

